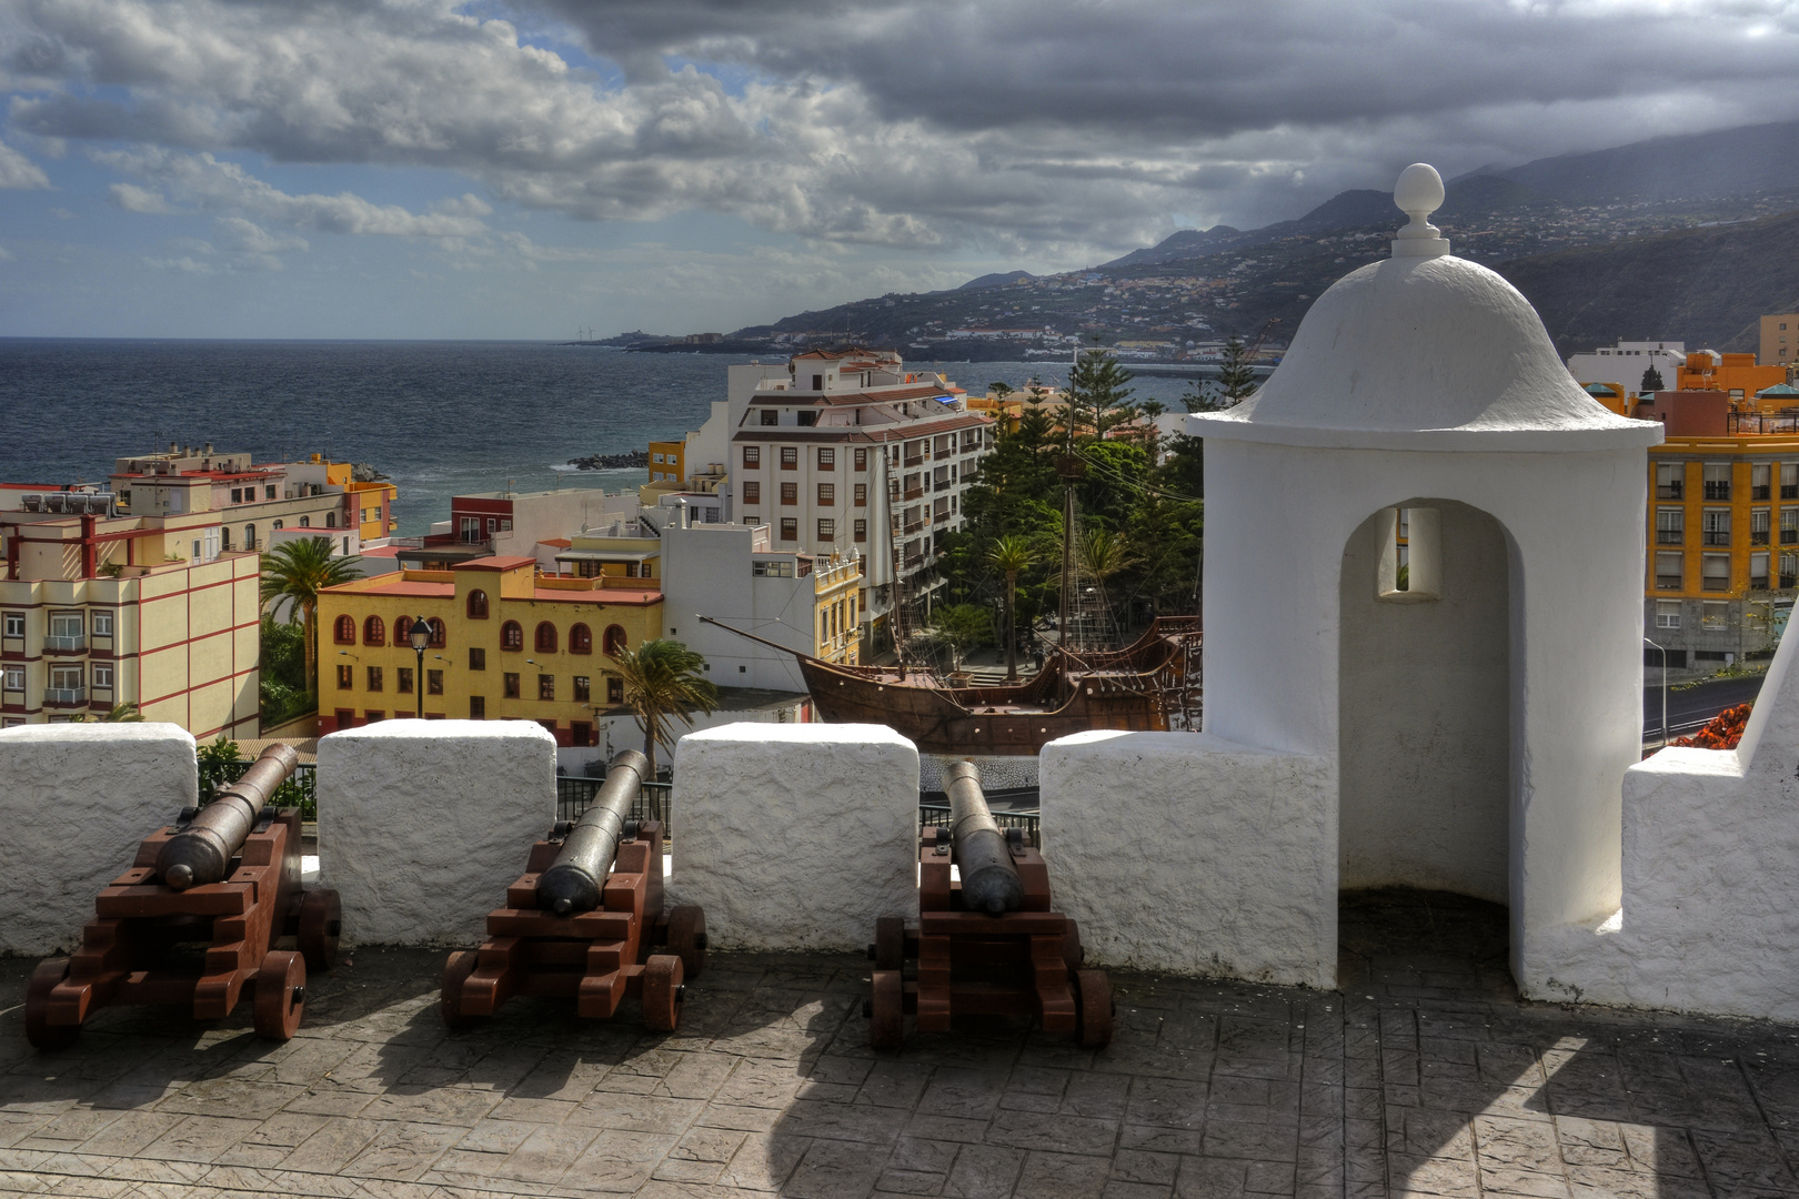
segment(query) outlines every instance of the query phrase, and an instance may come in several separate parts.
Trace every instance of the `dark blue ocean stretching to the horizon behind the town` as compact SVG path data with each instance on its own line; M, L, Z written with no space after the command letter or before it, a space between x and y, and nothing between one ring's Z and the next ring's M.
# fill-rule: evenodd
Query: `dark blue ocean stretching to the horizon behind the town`
M113 460L182 442L257 462L324 453L399 487L399 532L450 518L450 496L604 487L646 473L568 458L700 428L725 397L725 354L631 354L547 342L164 342L0 338L0 482L104 482ZM775 360L779 361L779 360ZM1060 383L1067 363L908 363L979 394ZM1139 377L1180 410L1186 383Z

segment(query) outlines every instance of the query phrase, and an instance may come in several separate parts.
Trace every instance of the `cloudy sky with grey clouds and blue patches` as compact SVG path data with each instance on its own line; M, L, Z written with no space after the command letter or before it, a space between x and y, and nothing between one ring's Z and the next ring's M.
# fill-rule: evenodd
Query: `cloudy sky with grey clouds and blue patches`
M0 0L0 336L567 338L1792 119L1788 0Z

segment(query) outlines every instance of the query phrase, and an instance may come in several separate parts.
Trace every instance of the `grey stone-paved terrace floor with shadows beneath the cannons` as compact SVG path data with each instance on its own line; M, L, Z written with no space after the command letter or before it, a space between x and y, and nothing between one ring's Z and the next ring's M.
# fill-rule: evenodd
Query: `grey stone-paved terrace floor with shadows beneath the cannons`
M444 1035L441 955L362 951L306 1026L108 1012L22 1035L0 1192L61 1195L1799 1195L1799 1030L1524 1005L1504 913L1344 904L1344 990L1117 978L1099 1053L988 1023L865 1046L865 964L714 956L676 1035L515 1001Z

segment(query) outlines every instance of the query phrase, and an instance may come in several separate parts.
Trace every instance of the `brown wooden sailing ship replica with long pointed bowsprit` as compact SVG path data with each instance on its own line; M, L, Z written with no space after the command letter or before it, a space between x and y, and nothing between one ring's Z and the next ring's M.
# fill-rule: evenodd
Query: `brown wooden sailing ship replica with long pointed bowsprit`
M702 620L730 629L709 617ZM997 687L944 685L907 667L837 665L743 629L730 631L793 654L826 721L887 724L925 753L1034 755L1045 742L1088 728L1200 726L1198 617L1157 617L1124 649L1052 647L1033 678Z

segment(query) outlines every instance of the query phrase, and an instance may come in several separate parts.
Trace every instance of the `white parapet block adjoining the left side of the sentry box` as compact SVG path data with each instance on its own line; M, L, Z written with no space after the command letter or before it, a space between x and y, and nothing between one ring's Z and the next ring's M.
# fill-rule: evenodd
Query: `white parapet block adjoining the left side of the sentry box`
M1337 777L1328 759L1209 733L1043 746L1054 906L1094 965L1337 985Z

